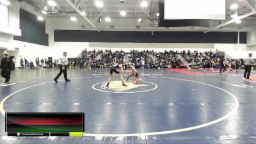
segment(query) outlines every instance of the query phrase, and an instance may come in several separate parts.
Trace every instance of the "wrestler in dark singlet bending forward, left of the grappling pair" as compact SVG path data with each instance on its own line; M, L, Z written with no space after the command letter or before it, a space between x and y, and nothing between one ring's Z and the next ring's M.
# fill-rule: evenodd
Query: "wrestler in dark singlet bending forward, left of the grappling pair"
M119 72L117 70L117 68L120 69L121 72ZM110 77L108 79L108 84L106 85L106 87L109 86L109 83L112 81L113 79L113 72L115 72L116 74L118 74L120 76L120 79L122 81L122 84L123 86L127 86L125 83L124 83L124 79L123 79L123 75L124 75L124 70L123 70L123 66L120 65L118 62L114 62L114 65L112 67L110 67Z

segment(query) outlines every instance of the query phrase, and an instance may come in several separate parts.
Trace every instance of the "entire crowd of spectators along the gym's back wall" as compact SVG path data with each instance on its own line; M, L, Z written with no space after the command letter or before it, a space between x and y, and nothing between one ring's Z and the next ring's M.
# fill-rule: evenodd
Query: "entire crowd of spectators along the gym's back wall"
M184 58L181 61L178 54ZM111 51L111 50L98 50L98 51L84 51L81 58L72 58L68 60L68 67L72 68L109 68L113 65L114 61L118 61L124 65L125 69L129 65L136 68L184 68L186 67L184 61L188 62L190 68L218 68L220 65L220 56L216 52L205 51L136 51L129 52ZM58 67L58 60L39 59L36 58L35 63L28 61L26 58L20 59L20 68L43 68L43 67ZM225 60L227 70L235 70L243 65L243 60Z

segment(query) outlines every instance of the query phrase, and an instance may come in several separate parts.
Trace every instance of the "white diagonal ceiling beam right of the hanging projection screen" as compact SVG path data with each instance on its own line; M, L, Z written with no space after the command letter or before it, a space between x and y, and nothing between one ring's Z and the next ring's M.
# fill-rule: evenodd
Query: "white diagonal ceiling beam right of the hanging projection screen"
M241 16L237 17L237 19L228 20L227 22L224 22L223 24L219 24L218 26L215 26L213 28L208 29L207 31L204 31L204 33L208 33L210 31L213 31L215 29L221 28L223 26L227 26L228 24L236 22L236 20L241 20L241 19L244 19L245 17L250 17L251 15L255 15L256 14L256 10L247 1L243 0L243 2L246 4L246 6L248 6L252 10L252 12L249 12L249 13L246 13L244 15L241 15Z

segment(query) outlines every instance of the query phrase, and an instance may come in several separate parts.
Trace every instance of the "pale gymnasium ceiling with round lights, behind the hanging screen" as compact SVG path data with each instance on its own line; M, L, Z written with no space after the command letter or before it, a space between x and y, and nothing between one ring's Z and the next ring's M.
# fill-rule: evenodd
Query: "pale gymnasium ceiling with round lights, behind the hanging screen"
M150 22L150 14L157 13L159 0L146 0L148 2L148 6L146 8L142 8L140 6L141 0L124 0L124 3L121 3L120 0L103 0L104 6L102 8L98 8L95 6L95 0L55 0L56 6L52 8L47 4L47 0L23 0L24 2L30 4L35 8L37 12L41 12L44 8L47 10L46 17L49 18L67 18L77 17L79 20L84 20L84 24L81 24L81 27L94 29L93 26L97 28L104 29L114 29L114 28L127 28L127 30L132 29L164 29L164 28L156 28L154 21L157 22L157 17L154 17L155 20L151 20ZM246 6L242 1L243 0L226 0L227 1L227 20L230 19L230 15L232 15L232 11L230 11L230 5L233 3L238 3L238 15L244 15L245 13L252 12L252 9L249 6ZM244 0L247 1L254 10L256 9L255 2L256 0ZM70 2L70 3L68 3ZM77 10L79 12L85 12L86 18L82 17L77 11L72 8L71 4L77 6ZM152 6L150 10L150 6ZM124 10L127 15L125 17L120 15L120 12ZM42 14L42 13L41 13ZM100 24L98 23L99 17L102 19ZM110 17L111 22L105 22L104 18ZM143 23L138 22L138 19L143 17ZM90 22L93 21L93 26ZM225 21L217 21L217 20L209 20L211 26L218 26L220 23L224 23ZM81 23L81 22L80 22ZM83 22L82 22L83 23ZM137 26L137 27L136 27ZM140 26L140 28L138 28ZM256 15L251 15L250 17L246 17L242 20L241 24L228 24L227 26L223 26L222 28L229 29L241 29L247 28L251 26L256 26ZM152 28L154 27L154 28ZM165 28L166 29L166 28ZM172 28L168 28L172 29ZM177 28L173 28L174 30ZM182 28L182 29L191 29L191 28ZM208 28L196 28L197 31L200 29L208 29ZM193 29L196 31L196 29ZM203 31L204 31L203 30ZM233 31L233 30L231 30Z

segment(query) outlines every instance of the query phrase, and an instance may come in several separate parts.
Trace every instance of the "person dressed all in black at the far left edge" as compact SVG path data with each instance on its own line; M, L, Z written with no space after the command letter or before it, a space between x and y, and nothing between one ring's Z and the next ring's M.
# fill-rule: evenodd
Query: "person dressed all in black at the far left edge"
M11 76L12 70L12 59L9 57L9 52L4 51L4 58L1 60L1 76L4 77L4 84L8 84Z

